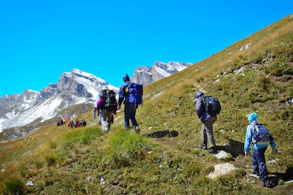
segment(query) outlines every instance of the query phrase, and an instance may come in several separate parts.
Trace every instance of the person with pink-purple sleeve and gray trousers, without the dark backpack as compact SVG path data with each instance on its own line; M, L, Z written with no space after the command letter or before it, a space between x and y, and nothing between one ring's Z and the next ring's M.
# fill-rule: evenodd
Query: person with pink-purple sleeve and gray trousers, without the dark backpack
M112 91L112 90L111 90ZM116 114L117 102L115 100L115 110L109 110L105 105L106 94L109 92L108 87L105 86L102 88L100 97L96 102L96 110L99 115L99 124L102 126L104 133L107 133L110 130L110 125L113 124L113 114Z

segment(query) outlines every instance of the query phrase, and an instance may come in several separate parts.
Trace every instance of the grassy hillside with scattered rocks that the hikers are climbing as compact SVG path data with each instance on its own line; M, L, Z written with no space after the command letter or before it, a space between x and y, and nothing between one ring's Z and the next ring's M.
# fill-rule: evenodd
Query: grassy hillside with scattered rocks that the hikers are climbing
M239 50L244 45L248 49ZM242 71L240 71L242 70ZM237 72L238 71L238 72ZM137 110L141 134L125 132L123 113L103 134L91 112L79 116L88 126L43 126L23 138L0 143L1 194L292 194L293 18L287 17L222 52L144 87ZM222 112L214 124L217 146L230 153L219 160L200 150L195 90L214 95ZM277 186L263 189L249 176L243 157L247 117L257 112L281 153L266 152ZM155 131L176 137L149 138ZM238 169L215 180L214 165ZM101 179L102 178L102 179ZM105 179L105 183L101 180ZM28 181L34 186L25 186Z

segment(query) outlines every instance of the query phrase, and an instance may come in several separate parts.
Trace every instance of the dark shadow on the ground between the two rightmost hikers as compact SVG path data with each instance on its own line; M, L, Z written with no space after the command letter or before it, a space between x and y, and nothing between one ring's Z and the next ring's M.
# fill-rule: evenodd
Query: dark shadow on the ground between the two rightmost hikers
M226 153L231 153L233 158L239 155L244 155L244 143L229 139L229 144L226 146L217 146L218 150L224 150Z

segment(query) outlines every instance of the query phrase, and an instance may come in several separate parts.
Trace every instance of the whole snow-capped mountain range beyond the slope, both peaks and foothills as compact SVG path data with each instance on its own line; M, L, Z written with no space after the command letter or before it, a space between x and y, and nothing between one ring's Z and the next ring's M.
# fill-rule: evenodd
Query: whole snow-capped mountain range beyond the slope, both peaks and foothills
M137 67L131 80L146 85L191 65L193 64L156 61L152 67ZM69 120L88 112L93 108L103 86L115 90L117 95L119 89L103 79L73 69L70 73L62 73L58 83L52 83L40 92L25 90L21 94L4 95L4 98L0 98L0 133L5 130L6 138L23 136L39 126L52 124L60 114ZM81 110L76 109L76 105L81 105Z

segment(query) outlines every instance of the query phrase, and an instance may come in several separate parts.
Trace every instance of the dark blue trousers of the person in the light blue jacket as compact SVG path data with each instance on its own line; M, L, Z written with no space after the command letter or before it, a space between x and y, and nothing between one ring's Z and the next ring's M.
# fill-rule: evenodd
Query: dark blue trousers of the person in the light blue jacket
M268 179L267 165L265 165L265 150L267 148L253 149L252 153L253 170L260 173L260 179L262 181Z

